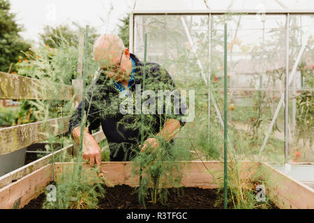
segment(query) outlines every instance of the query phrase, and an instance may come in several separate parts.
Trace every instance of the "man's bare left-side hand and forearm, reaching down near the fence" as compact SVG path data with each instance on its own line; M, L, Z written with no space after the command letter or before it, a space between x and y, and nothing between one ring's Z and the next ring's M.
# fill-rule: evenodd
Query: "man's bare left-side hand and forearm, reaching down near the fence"
M80 126L74 128L72 132L73 138L75 139L77 144L80 144L80 132ZM100 167L100 147L98 146L94 137L89 134L89 130L87 128L84 128L83 132L83 159L89 161L89 164L91 164L91 166L93 166L96 161L96 164Z

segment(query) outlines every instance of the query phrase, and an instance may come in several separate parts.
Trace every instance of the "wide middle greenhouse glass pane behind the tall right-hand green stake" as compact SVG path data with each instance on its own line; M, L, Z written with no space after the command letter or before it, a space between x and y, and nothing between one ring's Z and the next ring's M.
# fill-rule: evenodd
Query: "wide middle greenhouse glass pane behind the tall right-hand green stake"
M223 108L223 19L213 16L212 89ZM285 16L233 15L227 22L228 133L238 157L257 160L285 89ZM214 123L215 116L211 116ZM213 125L214 126L214 125ZM283 162L284 109L262 153Z

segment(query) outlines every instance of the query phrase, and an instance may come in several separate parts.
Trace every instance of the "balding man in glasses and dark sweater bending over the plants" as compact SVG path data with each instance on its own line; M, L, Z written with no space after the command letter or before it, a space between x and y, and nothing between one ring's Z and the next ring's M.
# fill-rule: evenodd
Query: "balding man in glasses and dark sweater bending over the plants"
M131 54L124 43L114 34L100 36L94 44L94 59L100 67L100 75L89 87L85 98L84 110L87 113L89 128L84 128L83 133L83 158L91 165L100 164L100 147L91 135L94 130L102 125L110 148L110 161L128 161L136 151L145 151L160 146L160 139L165 142L172 141L174 134L184 122L180 116L169 118L165 114L150 116L145 122L144 146L140 146L139 116L121 114L119 112L119 98L125 90L135 92L136 85L143 85L144 63ZM157 63L146 63L146 86L151 86L155 91L163 89L164 84L175 89L174 82L166 70ZM154 87L153 87L154 86ZM122 97L123 98L123 97ZM80 123L82 102L70 118L69 132L77 144L80 144ZM165 118L166 117L166 118ZM168 117L168 118L167 118ZM176 118L178 117L178 118ZM134 128L132 128L134 126ZM148 127L148 128L147 128ZM155 134L155 135L154 135Z

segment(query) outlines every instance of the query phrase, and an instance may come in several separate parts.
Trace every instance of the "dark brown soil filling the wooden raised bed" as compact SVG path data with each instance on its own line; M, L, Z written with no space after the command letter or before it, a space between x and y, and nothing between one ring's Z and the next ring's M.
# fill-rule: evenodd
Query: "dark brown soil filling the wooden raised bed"
M134 187L128 185L117 185L105 188L105 197L99 200L99 209L142 209L138 203L138 193ZM201 189L197 187L182 187L180 190L168 190L167 204L160 202L153 204L146 199L145 205L148 209L223 209L223 191L217 189ZM179 192L179 194L178 194ZM45 201L45 193L31 200L24 209L40 209ZM232 203L228 204L232 207ZM277 208L270 203L271 208Z

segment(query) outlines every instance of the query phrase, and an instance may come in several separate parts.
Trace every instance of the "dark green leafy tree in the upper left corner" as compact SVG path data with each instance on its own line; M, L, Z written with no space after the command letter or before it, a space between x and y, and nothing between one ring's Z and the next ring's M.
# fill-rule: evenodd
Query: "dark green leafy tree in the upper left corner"
M15 14L10 13L10 2L0 0L0 71L7 72L10 63L11 71L15 70L15 63L23 59L30 45L20 36L23 27L15 22ZM23 52L21 52L23 51Z

